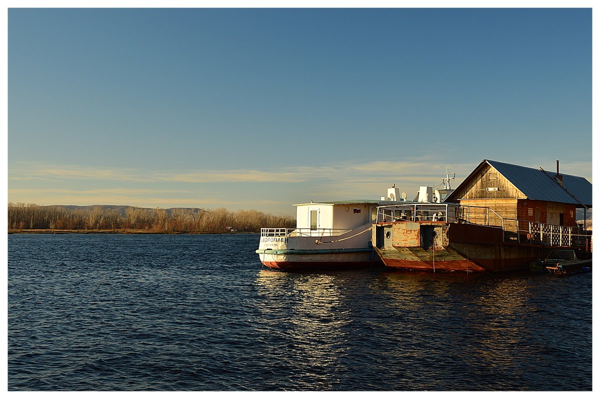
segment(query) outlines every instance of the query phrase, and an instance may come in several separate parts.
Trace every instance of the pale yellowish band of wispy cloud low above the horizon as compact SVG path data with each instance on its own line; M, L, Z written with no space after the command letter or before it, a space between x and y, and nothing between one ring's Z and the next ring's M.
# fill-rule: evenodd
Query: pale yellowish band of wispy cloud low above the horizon
M456 173L452 187L457 187L477 164L466 161L445 164L442 158L404 157L363 163L288 166L278 170L164 171L29 162L9 167L8 200L40 205L226 207L293 214L292 203L310 199L377 199L385 195L386 188L392 184L412 199L420 185L442 184L446 166L451 174ZM538 167L535 164L523 166ZM560 170L591 181L589 162L561 163Z

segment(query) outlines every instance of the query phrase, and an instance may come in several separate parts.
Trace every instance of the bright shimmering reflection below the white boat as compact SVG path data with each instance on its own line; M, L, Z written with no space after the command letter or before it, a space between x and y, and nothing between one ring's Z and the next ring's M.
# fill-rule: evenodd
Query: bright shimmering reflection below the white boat
M343 328L350 323L350 311L342 310L343 289L338 283L334 275L264 270L256 278L263 299L259 331L267 337L284 338L286 344L278 348L284 367L290 368L298 381L306 381L306 389L315 385L334 389L340 383L337 376L344 373L338 360L347 355Z

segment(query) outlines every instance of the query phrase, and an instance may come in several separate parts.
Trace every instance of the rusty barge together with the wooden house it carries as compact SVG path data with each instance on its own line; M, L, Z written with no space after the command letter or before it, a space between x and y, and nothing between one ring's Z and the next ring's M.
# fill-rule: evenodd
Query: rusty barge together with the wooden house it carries
M484 160L444 203L380 206L373 247L388 268L419 271L528 269L552 250L591 260L592 235L576 221L592 184ZM591 264L591 262L590 262Z

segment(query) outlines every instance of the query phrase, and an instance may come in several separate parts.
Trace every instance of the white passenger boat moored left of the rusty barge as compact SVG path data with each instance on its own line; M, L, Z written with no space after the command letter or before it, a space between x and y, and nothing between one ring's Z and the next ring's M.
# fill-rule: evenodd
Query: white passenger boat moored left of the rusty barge
M256 253L260 262L271 269L356 269L380 263L371 245L371 228L377 208L385 205L442 202L452 191L448 179L445 188L422 186L412 201L395 187L388 188L380 200L346 200L299 203L296 228L261 229Z

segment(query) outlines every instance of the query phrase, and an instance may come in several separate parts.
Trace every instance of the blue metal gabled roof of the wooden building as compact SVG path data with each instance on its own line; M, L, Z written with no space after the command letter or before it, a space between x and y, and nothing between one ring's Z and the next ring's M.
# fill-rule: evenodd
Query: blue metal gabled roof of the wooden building
M527 199L575 205L584 204L588 208L592 208L592 183L585 178L562 174L563 184L561 186L556 179L556 172L544 172L541 169L490 160L483 160L475 170L480 169L484 163L489 164L508 179L525 194Z

